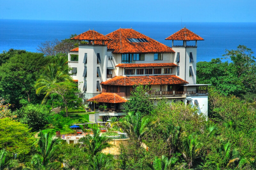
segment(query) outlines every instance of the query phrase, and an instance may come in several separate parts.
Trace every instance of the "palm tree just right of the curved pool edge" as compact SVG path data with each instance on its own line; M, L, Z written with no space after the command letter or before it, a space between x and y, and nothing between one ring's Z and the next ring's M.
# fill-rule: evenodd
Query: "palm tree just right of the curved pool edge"
M117 125L128 134L128 136L135 141L138 145L142 144L142 139L146 132L149 130L148 125L151 123L151 119L148 116L141 117L139 112L128 112L124 119L117 122Z

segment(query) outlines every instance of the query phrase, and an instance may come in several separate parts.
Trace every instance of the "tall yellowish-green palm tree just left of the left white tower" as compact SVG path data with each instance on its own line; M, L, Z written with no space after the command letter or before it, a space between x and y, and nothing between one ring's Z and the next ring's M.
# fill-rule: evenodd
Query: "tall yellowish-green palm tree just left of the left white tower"
M63 81L72 81L72 78L68 75L68 65L67 62L65 62L64 57L59 57L55 59L53 63L48 64L44 69L44 75L42 75L36 81L36 94L46 92L51 85L54 85L56 83ZM49 95L50 92L47 92L44 96L42 104L45 103Z

